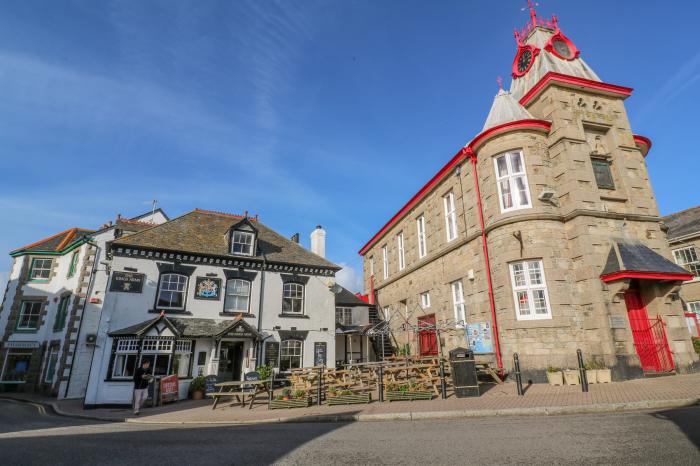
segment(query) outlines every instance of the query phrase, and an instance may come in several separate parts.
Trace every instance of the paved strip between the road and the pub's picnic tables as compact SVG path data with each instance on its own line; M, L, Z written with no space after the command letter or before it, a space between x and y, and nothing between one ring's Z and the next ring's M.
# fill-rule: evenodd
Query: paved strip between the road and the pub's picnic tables
M258 399L252 410L225 403L212 410L210 400L180 401L159 408L144 409L138 418L134 418L128 409L83 410L81 400L60 401L57 407L75 415L127 419L141 423L250 423L309 421L319 420L320 417L331 420L415 420L425 417L570 414L671 408L696 404L700 400L700 374L595 384L590 386L588 393L582 393L580 386L550 387L534 384L527 388L522 397L517 396L514 383L482 387L487 390L478 398L450 397L447 400L374 402L368 405L312 406L288 410L268 410L264 397Z

